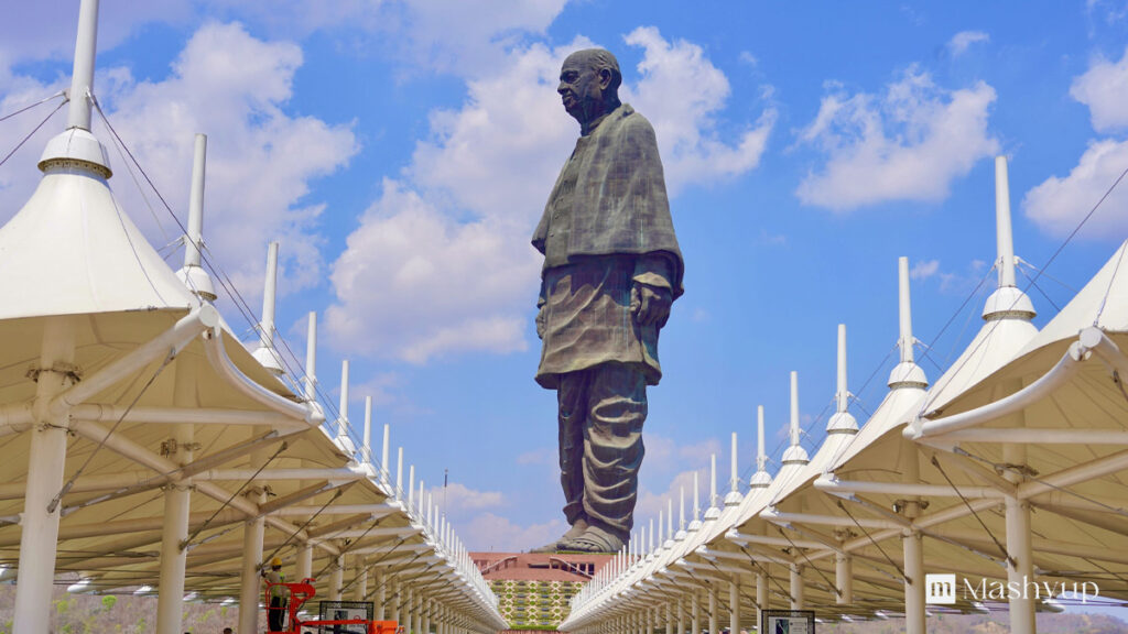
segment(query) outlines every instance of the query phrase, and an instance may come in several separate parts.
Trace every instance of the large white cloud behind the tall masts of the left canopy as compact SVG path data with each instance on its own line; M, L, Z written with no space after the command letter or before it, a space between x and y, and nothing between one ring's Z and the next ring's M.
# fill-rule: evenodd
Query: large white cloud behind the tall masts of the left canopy
M194 134L209 135L205 243L252 302L262 293L270 239L282 241L283 294L318 282L323 264L317 221L323 205L303 199L312 179L346 165L358 151L350 125L285 112L301 63L301 50L292 43L256 39L236 24L209 24L187 42L165 79L138 81L123 69L104 69L96 78L111 123L182 221ZM20 97L55 88L26 78L16 83L24 88ZM39 178L33 157L62 126L56 117L44 126L43 139L28 142L11 159L20 162L10 180L0 183L2 209L12 213L26 201ZM159 201L149 191L146 197L139 193L97 114L94 129L109 150L115 171L111 186L133 221L158 246L177 238L179 229ZM150 204L153 213L148 212ZM179 265L176 258L169 262Z

